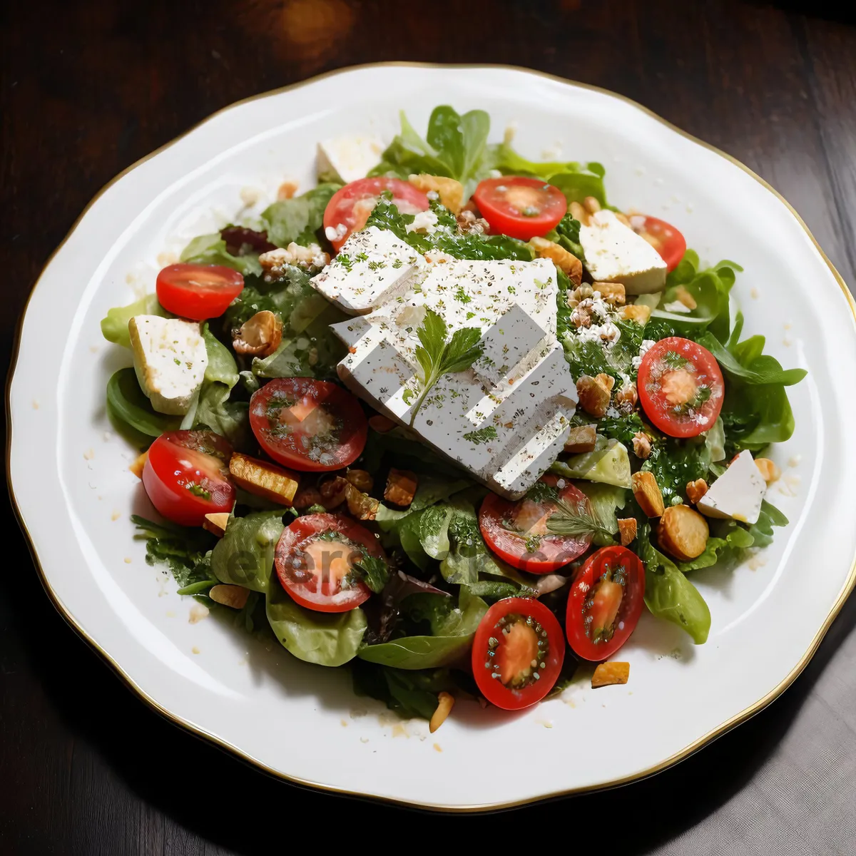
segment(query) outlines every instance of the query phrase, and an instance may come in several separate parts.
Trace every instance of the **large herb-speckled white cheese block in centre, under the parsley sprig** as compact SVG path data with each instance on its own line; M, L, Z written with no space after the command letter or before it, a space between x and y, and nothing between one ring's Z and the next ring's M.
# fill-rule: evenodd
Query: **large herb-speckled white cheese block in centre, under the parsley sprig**
M342 284L337 302L354 312L357 297L365 306L366 291L354 295L351 287ZM556 340L553 263L451 259L411 273L391 299L388 288L367 290L383 291L372 312L333 325L349 348L342 381L491 490L524 494L562 451L577 401ZM417 411L417 330L428 309L445 320L449 336L478 328L484 355L441 376Z

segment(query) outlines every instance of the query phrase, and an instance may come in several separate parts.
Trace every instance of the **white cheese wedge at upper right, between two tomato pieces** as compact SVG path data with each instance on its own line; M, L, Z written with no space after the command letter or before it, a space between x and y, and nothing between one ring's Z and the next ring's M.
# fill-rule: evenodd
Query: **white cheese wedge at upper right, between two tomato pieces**
M597 211L580 226L580 244L595 282L621 282L627 294L651 294L666 284L663 257L613 211Z

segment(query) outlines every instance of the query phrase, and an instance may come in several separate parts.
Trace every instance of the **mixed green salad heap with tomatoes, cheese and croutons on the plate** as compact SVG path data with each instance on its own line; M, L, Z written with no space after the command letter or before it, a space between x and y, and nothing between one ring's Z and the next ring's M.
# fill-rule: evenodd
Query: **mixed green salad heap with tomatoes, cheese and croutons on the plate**
M805 372L743 336L740 266L610 205L599 163L487 142L482 110L324 140L318 185L190 241L108 312L110 419L179 593L443 722L592 686L647 609L702 644L693 571L766 501ZM130 361L130 360L129 360Z

